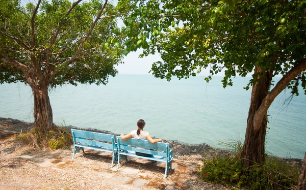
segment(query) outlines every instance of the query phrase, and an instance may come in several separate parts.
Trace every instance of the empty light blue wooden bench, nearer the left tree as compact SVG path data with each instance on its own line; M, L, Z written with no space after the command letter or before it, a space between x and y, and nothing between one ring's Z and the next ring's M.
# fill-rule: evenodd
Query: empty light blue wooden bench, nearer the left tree
M74 159L74 154L80 152L80 149L82 149L85 154L84 148L89 148L93 150L112 152L113 159L111 167L113 167L115 157L117 156L117 144L115 143L114 135L74 129L71 129L71 134L73 139L72 160Z

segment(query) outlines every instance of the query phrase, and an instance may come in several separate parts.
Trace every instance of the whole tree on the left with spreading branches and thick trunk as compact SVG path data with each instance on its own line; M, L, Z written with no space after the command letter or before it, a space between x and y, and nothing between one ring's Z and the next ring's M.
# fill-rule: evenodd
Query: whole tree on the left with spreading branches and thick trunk
M34 96L34 126L53 128L48 89L106 84L121 63L118 11L108 0L0 0L0 84L21 81Z

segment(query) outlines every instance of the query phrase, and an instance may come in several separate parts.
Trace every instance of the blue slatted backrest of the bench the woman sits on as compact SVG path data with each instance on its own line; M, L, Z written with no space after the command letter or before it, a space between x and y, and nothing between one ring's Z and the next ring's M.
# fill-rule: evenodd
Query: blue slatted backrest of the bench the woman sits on
M118 148L122 150L137 151L141 153L159 155L159 156L164 156L164 157L168 157L168 153L170 151L170 147L168 143L157 142L153 144L147 140L134 139L134 138L123 140L121 139L121 137L117 137L117 143L118 143ZM138 147L141 147L144 149L140 149ZM150 149L153 149L153 150L150 150Z

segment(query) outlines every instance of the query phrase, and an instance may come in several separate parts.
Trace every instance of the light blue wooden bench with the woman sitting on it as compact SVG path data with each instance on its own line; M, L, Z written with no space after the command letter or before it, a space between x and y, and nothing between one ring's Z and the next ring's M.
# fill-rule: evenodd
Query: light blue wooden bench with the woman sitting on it
M141 157L142 159L164 162L166 163L165 177L167 176L167 171L172 169L172 159L173 151L170 150L168 143L150 143L147 140L140 139L125 139L122 140L121 137L117 137L118 145L118 166L120 164L120 155ZM144 149L143 149L144 148ZM151 149L151 150L150 150ZM136 152L151 154L150 157L139 156Z

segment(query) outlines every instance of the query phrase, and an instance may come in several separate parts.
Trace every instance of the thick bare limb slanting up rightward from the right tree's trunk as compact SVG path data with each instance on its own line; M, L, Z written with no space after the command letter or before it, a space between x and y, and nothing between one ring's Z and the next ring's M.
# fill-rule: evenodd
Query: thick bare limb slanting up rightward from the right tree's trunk
M254 114L253 128L255 131L260 129L264 115L267 113L274 99L279 93L281 93L286 86L292 81L298 74L306 70L306 58L299 61L281 80L277 82L274 88L264 98L262 104Z

